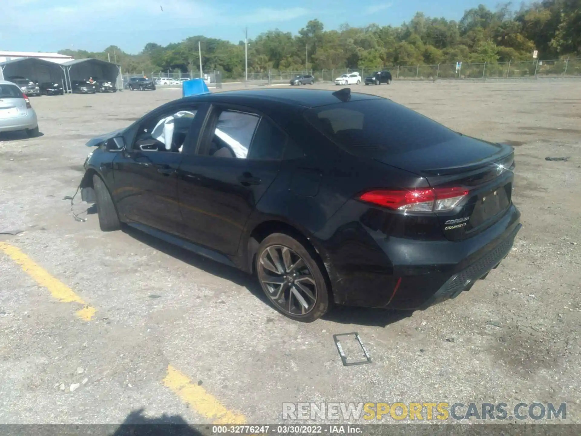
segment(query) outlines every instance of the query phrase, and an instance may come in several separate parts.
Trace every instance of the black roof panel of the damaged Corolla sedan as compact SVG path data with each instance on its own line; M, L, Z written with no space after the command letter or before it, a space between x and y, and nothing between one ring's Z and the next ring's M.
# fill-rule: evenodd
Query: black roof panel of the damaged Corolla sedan
M376 95L363 94L360 92L352 92L350 101L381 99ZM230 102L244 105L245 103L252 103L252 105L259 105L260 103L282 103L288 106L302 106L303 108L316 108L318 106L333 105L342 102L339 97L333 95L333 91L327 90L304 90L304 89L290 89L290 88L267 88L255 90L236 90L216 92L213 94L205 94L201 96L185 97L185 99L192 100L209 100L215 102Z

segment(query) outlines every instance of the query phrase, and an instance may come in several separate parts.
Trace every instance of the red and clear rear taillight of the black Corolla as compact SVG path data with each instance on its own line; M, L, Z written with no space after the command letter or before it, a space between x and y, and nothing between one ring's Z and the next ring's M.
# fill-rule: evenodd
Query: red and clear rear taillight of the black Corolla
M454 209L467 195L465 188L420 188L367 191L359 199L393 210L444 212Z

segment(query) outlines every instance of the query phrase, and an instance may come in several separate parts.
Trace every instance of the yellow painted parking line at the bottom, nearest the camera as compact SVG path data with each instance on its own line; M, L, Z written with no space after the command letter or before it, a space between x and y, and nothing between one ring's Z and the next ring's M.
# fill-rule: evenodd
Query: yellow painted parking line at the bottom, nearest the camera
M213 420L213 424L246 424L246 417L243 414L225 408L206 389L198 386L197 383L192 383L188 376L171 365L167 367L167 375L163 379L163 384L193 410L203 417Z

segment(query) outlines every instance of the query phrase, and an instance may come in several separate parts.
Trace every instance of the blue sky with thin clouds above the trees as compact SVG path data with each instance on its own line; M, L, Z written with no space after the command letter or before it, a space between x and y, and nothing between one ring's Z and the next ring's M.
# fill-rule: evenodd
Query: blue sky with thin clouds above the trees
M64 48L101 51L117 45L137 53L147 42L166 45L192 35L238 42L279 28L296 33L317 18L325 29L340 24L399 25L415 12L459 20L479 3L448 0L6 0L2 5L0 50L57 51ZM163 11L162 11L163 8Z

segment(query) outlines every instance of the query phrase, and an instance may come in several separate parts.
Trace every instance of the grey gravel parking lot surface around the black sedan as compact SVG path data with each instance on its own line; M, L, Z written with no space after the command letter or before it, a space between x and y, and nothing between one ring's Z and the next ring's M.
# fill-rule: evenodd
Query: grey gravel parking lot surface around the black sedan
M0 136L0 232L24 231L0 235L0 423L277 423L283 402L302 401L566 402L581 423L579 85L353 86L513 145L524 227L500 267L452 301L339 308L311 324L279 315L243 273L137 231L102 233L78 197L87 221L73 219L63 198L85 142L179 90L31 98L43 135ZM342 366L332 335L351 331L371 364Z

